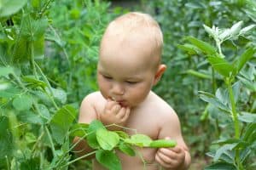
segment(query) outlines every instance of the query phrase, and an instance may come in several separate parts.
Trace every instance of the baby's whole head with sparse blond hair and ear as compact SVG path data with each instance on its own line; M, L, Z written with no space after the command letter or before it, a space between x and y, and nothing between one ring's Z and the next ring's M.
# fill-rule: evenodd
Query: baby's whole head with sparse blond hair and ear
M110 22L100 46L97 78L102 95L122 105L143 102L166 65L160 65L163 36L148 14L132 12Z

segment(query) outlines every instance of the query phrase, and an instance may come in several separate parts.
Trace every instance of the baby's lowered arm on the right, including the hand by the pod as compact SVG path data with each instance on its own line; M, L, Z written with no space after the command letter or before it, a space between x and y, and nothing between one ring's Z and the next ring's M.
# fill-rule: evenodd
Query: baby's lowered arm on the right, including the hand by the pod
M162 120L159 139L174 139L177 141L177 146L174 148L160 148L155 155L155 160L165 169L188 169L190 155L188 147L183 141L177 114L172 111L170 116Z

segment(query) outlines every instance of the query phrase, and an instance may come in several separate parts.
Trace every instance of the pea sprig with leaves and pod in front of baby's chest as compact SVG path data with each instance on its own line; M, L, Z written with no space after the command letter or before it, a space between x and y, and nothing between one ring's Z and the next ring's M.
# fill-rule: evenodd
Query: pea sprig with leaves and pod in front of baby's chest
M112 126L112 125L110 125ZM114 125L113 125L114 126ZM79 136L80 139L86 139L86 142L95 151L88 153L87 155L80 156L69 163L83 159L86 156L92 154L96 155L96 160L111 170L120 170L121 163L119 157L116 156L115 151L120 150L128 156L140 156L139 153L134 149L137 147L149 147L149 148L172 148L176 145L176 141L172 139L158 139L152 140L144 134L134 134L129 136L124 131L109 131L102 122L97 120L90 124L76 124L71 130L71 136ZM73 144L73 147L76 144ZM143 157L141 157L143 159ZM146 162L144 166L146 166ZM66 165L67 166L67 165Z

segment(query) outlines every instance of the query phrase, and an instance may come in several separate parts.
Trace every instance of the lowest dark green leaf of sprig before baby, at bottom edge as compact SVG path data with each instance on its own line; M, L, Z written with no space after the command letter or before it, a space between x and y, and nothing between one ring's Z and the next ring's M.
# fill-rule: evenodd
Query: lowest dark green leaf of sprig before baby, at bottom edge
M97 150L96 160L109 170L121 170L121 162L119 157L116 156L113 151L109 150Z

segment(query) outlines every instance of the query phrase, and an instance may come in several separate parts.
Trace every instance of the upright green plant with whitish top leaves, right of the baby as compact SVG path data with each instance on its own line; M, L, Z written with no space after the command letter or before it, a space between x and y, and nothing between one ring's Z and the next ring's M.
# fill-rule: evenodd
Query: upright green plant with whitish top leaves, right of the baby
M189 39L189 42L197 48L200 48L203 54L207 54L207 61L210 63L214 71L217 71L219 75L223 76L222 80L226 86L224 89L218 88L215 95L207 92L201 92L201 99L207 101L209 105L214 105L220 111L228 113L231 122L233 122L232 130L234 133L228 135L230 136L229 138L223 136L222 138L220 137L218 141L212 143L219 147L212 151L212 153L208 154L208 156L212 156L214 163L206 167L206 169L251 169L254 167L250 162L253 161L253 156L255 156L254 143L256 138L251 135L256 133L256 122L255 119L253 119L253 112L243 113L239 116L240 111L237 108L241 105L241 103L238 103L241 96L241 82L239 79L237 80L236 76L239 75L242 68L247 65L249 59L253 58L256 50L254 46L247 48L241 56L234 59L235 61L231 65L225 59L225 55L222 54L222 48L220 46L221 42L219 41L220 39L226 41L240 36L239 32L244 30L241 29L241 26L241 21L236 23L230 28L230 30L226 30L228 33L224 32L225 36L223 36L223 34L216 34L216 32L218 32L216 31L218 30L218 27L212 26L211 29L205 26L206 31L214 38L216 46L218 47L218 53L216 54L212 54L212 48L208 48L209 44L207 42L202 42L196 38L193 38L193 41ZM247 29L247 31L249 31L249 29ZM244 31L242 32L247 33ZM207 50L210 52L207 53ZM254 79L255 74L253 80ZM237 82L235 82L236 80ZM253 92L248 91L248 94L255 99ZM248 106L250 107L250 105ZM218 119L218 117L216 117L216 119ZM250 119L250 121L248 121L248 119Z

